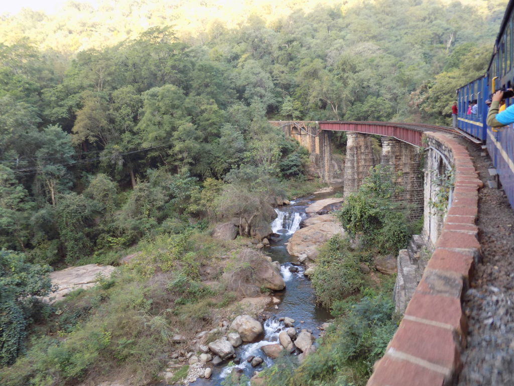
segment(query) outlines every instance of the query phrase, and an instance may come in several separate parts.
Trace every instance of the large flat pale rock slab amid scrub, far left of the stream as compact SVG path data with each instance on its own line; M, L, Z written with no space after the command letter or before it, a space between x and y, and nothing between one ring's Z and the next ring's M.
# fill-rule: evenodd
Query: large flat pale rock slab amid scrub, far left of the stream
M113 266L98 266L88 264L86 266L69 267L61 271L50 273L52 285L57 285L58 290L45 297L44 300L58 302L64 299L69 292L79 288L90 288L96 285L98 276L109 277L113 273ZM54 298L54 299L52 299Z

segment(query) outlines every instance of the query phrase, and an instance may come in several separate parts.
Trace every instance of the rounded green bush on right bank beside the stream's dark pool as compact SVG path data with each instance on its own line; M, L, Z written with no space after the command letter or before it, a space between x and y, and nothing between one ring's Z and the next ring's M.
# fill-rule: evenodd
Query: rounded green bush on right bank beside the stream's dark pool
M364 284L359 258L350 250L347 239L334 236L320 249L311 277L316 299L325 307L355 294Z

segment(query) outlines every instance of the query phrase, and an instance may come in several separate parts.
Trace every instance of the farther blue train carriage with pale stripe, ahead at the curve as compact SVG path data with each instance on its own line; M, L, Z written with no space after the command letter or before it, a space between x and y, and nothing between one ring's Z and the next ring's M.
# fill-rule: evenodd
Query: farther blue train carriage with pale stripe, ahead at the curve
M458 128L486 141L487 106L489 98L487 76L477 78L457 90ZM468 114L471 101L477 101L476 114Z

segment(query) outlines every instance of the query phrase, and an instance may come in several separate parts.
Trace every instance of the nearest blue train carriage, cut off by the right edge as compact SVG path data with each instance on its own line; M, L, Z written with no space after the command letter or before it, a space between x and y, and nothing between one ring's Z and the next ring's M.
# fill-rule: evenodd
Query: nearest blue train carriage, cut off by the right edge
M500 89L514 88L513 37L514 37L514 0L510 0L500 26L498 37L489 68L489 90L493 94ZM514 98L506 100L506 105L514 103ZM484 125L484 127L486 127ZM487 150L496 168L500 182L510 205L514 208L514 129L512 125L495 130L487 128Z

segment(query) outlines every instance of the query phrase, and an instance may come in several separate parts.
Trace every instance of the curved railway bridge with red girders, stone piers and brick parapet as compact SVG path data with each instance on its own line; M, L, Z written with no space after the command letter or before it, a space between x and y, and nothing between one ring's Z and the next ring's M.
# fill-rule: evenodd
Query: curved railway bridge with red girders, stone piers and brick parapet
M271 123L298 139L320 177L328 183L342 183L348 189L344 195L360 186L366 167L378 163L376 152L370 151L370 134L382 136L379 162L390 165L397 183L409 191L410 196L401 199L416 204L421 197L424 227L420 238L432 253L428 261L416 261L405 251L398 255L395 301L403 318L386 354L375 364L368 386L454 384L466 345L462 297L481 259L476 220L478 191L483 186L460 143L460 134L448 128L391 122ZM330 138L332 131L341 130L347 131L348 141L344 173L338 179ZM419 181L421 188L416 185ZM431 206L442 185L451 187L443 213Z

